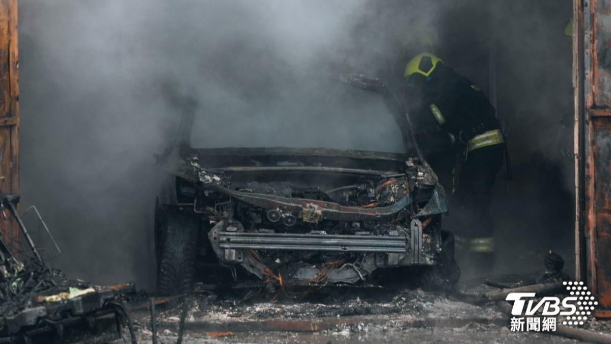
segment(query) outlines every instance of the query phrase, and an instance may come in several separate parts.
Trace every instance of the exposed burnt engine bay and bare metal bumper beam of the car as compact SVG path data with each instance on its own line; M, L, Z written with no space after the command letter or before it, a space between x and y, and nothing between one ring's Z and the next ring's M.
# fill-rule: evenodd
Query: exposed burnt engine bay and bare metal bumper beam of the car
M377 175L191 165L199 181L177 178L179 201L203 218L202 244L235 282L245 270L281 286L367 284L379 268L440 261L445 198L418 162Z

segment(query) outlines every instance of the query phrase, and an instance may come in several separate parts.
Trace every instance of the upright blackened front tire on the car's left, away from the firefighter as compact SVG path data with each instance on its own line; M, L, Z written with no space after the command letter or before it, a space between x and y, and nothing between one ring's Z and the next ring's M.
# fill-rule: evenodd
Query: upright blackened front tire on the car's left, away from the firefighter
M177 210L156 214L157 294L189 294L193 289L199 221Z

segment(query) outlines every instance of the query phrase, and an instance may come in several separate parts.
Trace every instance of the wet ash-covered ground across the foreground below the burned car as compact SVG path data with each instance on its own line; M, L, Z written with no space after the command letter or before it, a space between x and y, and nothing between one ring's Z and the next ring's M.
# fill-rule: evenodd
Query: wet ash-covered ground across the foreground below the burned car
M277 301L246 292L200 293L185 302L183 343L577 342L511 332L508 316L494 304L472 305L422 290L343 288ZM156 307L158 342L176 342L183 307L181 299ZM132 313L139 342L151 342L147 302L134 305ZM583 328L611 333L608 321L590 320Z

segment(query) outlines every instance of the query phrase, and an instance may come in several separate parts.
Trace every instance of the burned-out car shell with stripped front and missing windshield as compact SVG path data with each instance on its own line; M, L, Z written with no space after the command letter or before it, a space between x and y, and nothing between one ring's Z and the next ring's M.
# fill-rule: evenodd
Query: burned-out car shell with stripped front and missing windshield
M393 121L404 152L193 148L186 110L179 140L159 157L172 173L155 211L159 294L189 293L196 280L287 294L297 285L457 282L453 237L441 228L444 189L400 103L379 80L338 79L384 104L376 116Z

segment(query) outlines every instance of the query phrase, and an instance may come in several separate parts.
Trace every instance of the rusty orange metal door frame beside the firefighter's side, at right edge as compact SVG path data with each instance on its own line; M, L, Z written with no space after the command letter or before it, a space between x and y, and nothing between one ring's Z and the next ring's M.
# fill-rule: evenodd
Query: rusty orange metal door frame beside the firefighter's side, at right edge
M576 275L611 317L611 1L574 0Z

